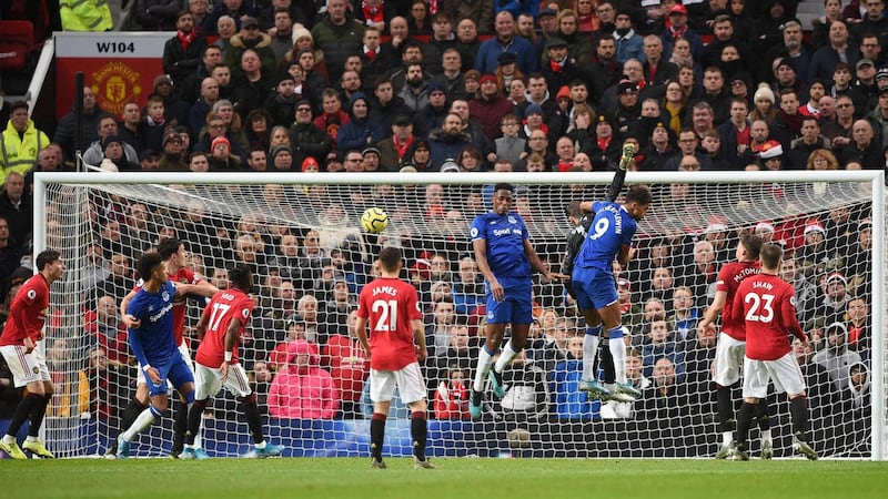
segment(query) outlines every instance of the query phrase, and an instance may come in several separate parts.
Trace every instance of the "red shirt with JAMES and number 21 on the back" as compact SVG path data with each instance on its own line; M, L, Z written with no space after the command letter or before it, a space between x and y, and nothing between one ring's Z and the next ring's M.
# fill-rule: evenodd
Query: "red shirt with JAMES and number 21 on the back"
M357 316L370 323L370 367L400 370L416 360L412 319L422 319L416 288L395 277L381 277L361 289Z

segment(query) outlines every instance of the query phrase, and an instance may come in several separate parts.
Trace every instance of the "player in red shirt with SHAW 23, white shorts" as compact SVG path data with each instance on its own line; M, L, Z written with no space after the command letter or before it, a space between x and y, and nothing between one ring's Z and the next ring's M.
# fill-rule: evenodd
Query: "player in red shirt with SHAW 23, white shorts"
M777 393L789 396L793 421L793 448L810 460L817 459L806 438L808 399L805 379L789 342L789 335L808 346L808 336L796 317L796 291L778 277L783 248L768 243L759 255L761 273L747 277L737 288L731 314L743 317L746 326L746 356L743 365L743 406L737 416L735 456L748 460L746 439L756 414L756 405L768 395L768 381Z

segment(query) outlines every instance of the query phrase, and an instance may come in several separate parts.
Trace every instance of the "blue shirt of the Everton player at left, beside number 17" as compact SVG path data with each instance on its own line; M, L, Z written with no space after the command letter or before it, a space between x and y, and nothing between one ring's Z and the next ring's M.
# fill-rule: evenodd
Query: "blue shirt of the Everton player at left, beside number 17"
M163 366L181 357L173 337L173 295L175 286L167 282L157 293L140 288L130 301L127 314L141 320L138 329L130 329L130 347L142 366Z

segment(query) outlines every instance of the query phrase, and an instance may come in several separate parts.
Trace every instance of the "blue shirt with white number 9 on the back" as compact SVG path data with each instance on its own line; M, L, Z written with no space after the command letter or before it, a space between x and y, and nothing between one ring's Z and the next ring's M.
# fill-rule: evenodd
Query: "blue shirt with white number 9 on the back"
M609 201L596 201L592 211L595 218L592 220L575 266L613 272L614 258L623 245L632 244L638 223L625 207Z

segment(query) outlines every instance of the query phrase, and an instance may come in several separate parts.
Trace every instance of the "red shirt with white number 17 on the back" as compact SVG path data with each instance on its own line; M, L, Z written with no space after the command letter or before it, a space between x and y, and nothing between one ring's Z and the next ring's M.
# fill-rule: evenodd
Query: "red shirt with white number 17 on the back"
M241 320L238 328L238 338L243 334L244 326L250 322L253 313L253 301L241 289L231 288L220 291L203 309L206 317L206 333L201 346L198 347L195 360L202 366L219 367L225 360L225 334L235 318ZM231 350L231 361L238 364L238 339Z

